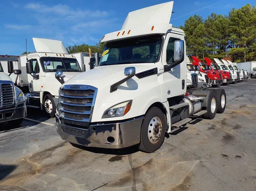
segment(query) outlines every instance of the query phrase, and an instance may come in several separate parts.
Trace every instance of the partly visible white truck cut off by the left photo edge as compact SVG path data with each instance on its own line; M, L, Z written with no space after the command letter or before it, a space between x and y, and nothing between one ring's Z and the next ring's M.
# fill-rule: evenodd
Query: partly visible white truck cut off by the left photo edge
M8 62L9 75L20 75L20 70L13 69L13 62ZM0 62L0 131L1 123L9 122L11 127L19 126L27 116L25 97L17 88L17 80L13 83L9 75L5 74ZM16 78L17 79L17 78Z

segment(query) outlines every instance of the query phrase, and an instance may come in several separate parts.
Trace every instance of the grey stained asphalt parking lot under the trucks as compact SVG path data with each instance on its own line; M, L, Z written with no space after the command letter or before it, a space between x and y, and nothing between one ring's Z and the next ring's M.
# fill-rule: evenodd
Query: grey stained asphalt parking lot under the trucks
M187 124L152 154L75 148L54 118L28 108L19 128L0 128L0 190L255 191L256 79L222 88L224 114Z

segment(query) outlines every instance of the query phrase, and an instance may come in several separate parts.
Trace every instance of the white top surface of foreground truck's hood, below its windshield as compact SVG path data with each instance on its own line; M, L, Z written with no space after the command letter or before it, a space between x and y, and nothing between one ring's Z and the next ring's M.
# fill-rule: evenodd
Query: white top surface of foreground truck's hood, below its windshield
M119 80L126 78L126 76L124 75L124 69L126 67L135 67L136 74L156 68L154 63L99 66L75 76L67 84L85 84L94 86L96 88L101 87L102 85L112 85L113 83L116 83ZM137 77L133 77L132 79L133 81L138 80ZM127 81L127 83L128 82L129 80ZM65 84L66 83L64 83L63 85Z

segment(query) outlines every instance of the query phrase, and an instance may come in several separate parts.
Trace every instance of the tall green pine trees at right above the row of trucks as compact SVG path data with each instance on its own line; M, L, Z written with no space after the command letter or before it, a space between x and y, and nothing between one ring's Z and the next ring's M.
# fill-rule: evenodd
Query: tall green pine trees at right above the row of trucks
M238 63L256 60L256 6L233 8L228 15L212 13L205 20L194 15L179 28L187 36L190 56L228 58Z

